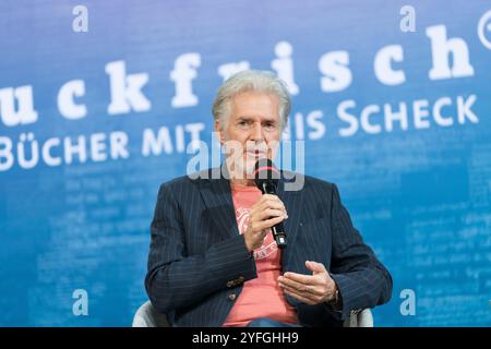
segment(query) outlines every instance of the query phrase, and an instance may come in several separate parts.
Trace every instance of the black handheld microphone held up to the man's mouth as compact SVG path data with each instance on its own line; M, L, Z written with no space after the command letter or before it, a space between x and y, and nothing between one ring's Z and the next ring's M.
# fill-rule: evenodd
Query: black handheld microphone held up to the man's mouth
M279 181L279 171L271 159L263 158L255 163L254 167L254 182L263 194L276 195L276 188ZM278 249L285 249L287 245L285 228L283 221L271 227L273 238L278 245Z

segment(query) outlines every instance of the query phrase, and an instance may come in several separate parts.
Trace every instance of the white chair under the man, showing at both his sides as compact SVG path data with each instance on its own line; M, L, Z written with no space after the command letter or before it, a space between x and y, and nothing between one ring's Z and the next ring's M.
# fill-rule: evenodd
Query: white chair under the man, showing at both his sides
M373 316L370 309L352 314L344 322L345 327L373 327ZM143 303L133 317L132 327L169 327L167 316L155 310L149 301Z

